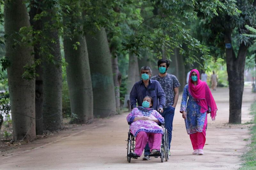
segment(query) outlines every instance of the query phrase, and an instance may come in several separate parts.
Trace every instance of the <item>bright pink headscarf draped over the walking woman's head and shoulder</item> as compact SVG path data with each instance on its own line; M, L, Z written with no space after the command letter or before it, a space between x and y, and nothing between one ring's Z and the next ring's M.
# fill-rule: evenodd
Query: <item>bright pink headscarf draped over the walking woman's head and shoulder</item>
M196 72L197 74L197 85L195 86L193 84L193 81L191 79L191 75L193 72ZM191 70L189 74L189 81L188 81L188 91L191 94L192 97L194 97L198 105L201 106L200 112L208 112L208 106L211 107L211 117L212 120L215 120L216 112L218 110L216 103L212 97L212 93L210 91L210 88L206 84L206 82L201 81L200 79L199 71L196 69Z

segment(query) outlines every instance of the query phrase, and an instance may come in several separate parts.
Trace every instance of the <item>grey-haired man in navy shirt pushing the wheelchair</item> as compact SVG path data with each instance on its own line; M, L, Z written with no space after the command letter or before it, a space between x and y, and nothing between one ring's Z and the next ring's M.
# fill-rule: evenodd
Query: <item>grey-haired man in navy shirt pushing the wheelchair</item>
M132 90L130 92L130 105L132 109L136 107L136 103L138 103L138 106L142 106L144 97L150 96L153 99L152 108L157 111L163 112L163 107L165 104L165 94L159 82L150 79L151 74L152 70L150 69L150 67L141 67L140 75L142 80L136 82L132 87ZM150 154L149 150L150 148L147 144L144 150L143 160L150 159L148 156Z

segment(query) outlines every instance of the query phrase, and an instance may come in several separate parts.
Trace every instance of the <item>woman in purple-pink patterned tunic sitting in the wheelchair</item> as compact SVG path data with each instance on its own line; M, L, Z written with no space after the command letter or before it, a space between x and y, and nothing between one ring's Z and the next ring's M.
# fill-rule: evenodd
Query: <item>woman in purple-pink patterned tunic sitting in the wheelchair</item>
M164 118L153 108L153 100L150 96L143 99L142 107L132 109L127 115L127 122L131 122L130 129L135 139L135 150L130 152L131 156L141 156L146 144L151 154L160 154L160 146L163 128L158 123L164 122Z

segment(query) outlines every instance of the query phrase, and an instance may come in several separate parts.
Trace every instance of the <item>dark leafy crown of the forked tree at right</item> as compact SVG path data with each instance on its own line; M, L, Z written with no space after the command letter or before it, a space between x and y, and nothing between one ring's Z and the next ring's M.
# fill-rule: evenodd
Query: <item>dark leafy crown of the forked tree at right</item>
M247 29L244 25L256 26L256 8L253 6L253 0L234 1L234 5L239 10L239 15L230 15L227 11L222 11L220 15L204 20L198 25L204 44L212 49L211 54L215 57L224 58L227 31L232 33L232 48L236 55L241 44L252 44L252 40L245 36Z

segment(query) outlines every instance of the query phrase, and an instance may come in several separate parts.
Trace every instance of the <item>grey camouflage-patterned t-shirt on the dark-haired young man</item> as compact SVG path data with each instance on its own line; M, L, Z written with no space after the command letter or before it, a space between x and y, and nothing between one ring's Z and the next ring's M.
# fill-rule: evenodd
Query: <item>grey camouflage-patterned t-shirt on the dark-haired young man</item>
M179 87L180 83L176 76L167 73L165 77L160 77L158 74L151 78L152 80L157 80L165 93L165 107L173 105L174 100L174 88Z

